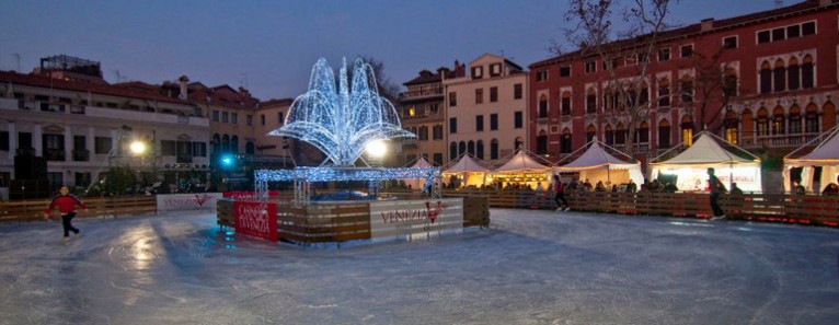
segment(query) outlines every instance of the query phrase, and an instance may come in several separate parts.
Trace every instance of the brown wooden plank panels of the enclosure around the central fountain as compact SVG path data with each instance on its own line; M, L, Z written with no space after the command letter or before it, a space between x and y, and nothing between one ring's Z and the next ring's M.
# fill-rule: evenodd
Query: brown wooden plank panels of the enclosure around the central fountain
M235 228L233 200L218 200L217 211L219 225ZM463 198L463 227L489 225L489 200L485 197ZM306 207L280 201L277 206L277 228L279 239L301 244L340 243L372 236L369 205L360 201Z

